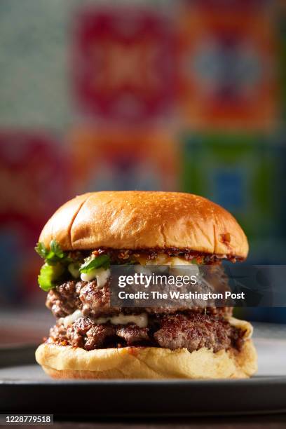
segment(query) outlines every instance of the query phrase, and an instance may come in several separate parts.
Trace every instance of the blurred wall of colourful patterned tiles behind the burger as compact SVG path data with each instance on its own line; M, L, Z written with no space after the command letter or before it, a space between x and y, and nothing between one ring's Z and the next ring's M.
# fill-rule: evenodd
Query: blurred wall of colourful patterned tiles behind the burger
M90 190L206 196L285 264L285 118L285 1L1 0L1 308L43 308L39 232Z

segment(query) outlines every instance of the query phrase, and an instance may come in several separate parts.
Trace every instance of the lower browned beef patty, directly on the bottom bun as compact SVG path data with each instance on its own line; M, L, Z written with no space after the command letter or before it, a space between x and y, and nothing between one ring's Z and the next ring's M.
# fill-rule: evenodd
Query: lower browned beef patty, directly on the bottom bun
M243 331L233 327L223 318L199 313L176 313L173 315L153 315L149 325L96 325L90 318L79 318L69 327L58 322L50 329L48 341L81 347L95 348L154 346L163 348L212 348L214 352L227 348L240 349Z

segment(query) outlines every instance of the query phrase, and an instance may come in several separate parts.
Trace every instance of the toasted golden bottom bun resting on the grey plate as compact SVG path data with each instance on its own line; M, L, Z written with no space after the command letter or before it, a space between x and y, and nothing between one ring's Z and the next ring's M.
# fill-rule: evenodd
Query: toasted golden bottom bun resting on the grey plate
M243 348L214 353L200 348L83 348L43 343L36 361L55 379L244 379L257 371L252 340Z

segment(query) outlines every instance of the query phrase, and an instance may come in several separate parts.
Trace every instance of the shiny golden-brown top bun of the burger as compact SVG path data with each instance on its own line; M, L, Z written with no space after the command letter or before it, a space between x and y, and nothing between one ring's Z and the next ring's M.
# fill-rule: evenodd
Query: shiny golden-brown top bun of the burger
M201 196L180 192L102 191L62 205L39 241L63 250L166 249L247 257L248 243L236 219Z

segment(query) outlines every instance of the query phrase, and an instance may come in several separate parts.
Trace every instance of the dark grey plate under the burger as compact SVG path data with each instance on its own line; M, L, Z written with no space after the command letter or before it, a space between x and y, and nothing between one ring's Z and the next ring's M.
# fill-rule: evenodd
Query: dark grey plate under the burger
M0 350L0 413L188 416L286 412L286 376L214 381L54 381L34 348Z

